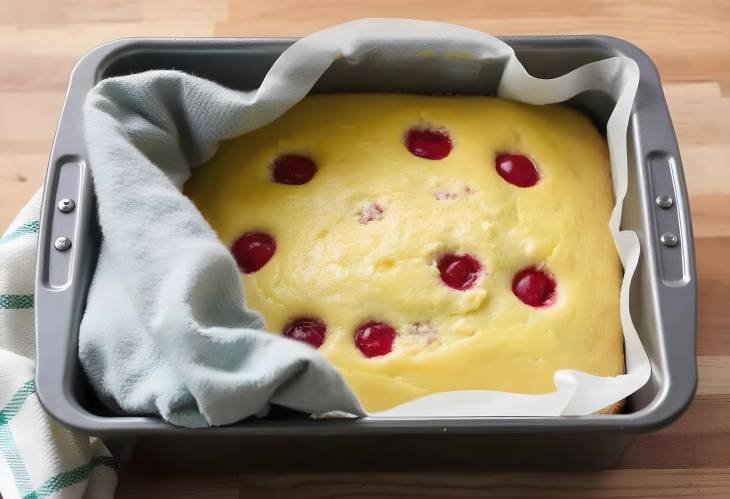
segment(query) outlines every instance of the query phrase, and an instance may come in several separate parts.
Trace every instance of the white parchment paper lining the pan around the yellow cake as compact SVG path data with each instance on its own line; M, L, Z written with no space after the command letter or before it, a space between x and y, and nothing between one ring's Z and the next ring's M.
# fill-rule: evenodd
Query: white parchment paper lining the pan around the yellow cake
M336 26L308 36L291 47L277 61L278 73L296 58L328 60L332 51L357 61L377 54L402 62L423 57L437 59L456 74L479 74L475 61L506 58L497 96L529 104L563 102L587 90L601 90L615 101L607 124L611 172L616 205L609 227L624 268L620 313L624 334L627 373L599 377L561 369L554 375L555 391L527 395L486 390L435 393L393 409L371 414L381 417L464 417L464 416L554 416L591 414L626 398L649 379L650 364L629 312L629 288L639 258L639 239L632 231L620 230L621 211L628 186L626 131L639 67L629 58L614 57L584 65L555 79L539 79L527 73L514 51L504 42L468 28L404 19L365 19ZM429 61L432 62L432 61ZM312 65L313 74L319 67ZM467 70L462 70L466 67ZM282 81L282 80L279 80ZM285 80L284 80L285 81ZM295 82L292 87L296 87ZM299 94L296 89L293 93Z

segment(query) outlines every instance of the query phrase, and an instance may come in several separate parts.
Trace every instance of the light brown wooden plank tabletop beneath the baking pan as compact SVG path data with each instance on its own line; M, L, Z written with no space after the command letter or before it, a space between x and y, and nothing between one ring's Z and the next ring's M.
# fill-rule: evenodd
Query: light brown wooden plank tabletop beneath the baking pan
M727 0L0 0L0 226L41 184L69 72L86 50L125 36L303 35L358 17L435 19L496 35L601 33L649 53L664 79L691 195L697 397L677 423L639 438L602 473L122 473L118 497L730 497Z

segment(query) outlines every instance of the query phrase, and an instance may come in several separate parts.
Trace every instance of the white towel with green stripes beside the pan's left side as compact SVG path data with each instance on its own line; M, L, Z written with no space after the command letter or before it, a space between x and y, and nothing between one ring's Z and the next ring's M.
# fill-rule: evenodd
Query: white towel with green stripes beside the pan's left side
M0 239L0 496L114 496L117 464L101 440L65 428L35 393L33 285L41 193Z

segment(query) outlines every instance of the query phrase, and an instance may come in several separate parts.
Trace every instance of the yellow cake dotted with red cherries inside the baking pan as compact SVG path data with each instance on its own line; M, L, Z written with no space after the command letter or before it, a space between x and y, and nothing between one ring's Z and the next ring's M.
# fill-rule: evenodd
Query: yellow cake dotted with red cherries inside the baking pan
M608 151L575 110L310 96L185 190L247 305L318 346L369 411L624 372Z

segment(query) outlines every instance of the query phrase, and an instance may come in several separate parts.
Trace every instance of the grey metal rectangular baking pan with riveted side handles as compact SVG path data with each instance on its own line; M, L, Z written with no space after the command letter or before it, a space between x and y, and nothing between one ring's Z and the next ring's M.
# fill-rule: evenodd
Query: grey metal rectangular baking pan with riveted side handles
M293 40L247 38L119 40L94 49L74 69L51 152L38 246L36 382L46 410L68 426L103 437L123 455L135 454L138 463L176 469L597 469L613 464L635 435L676 419L697 384L696 274L687 189L657 70L640 49L610 37L504 41L539 77L559 76L616 55L640 66L628 131L629 190L622 226L636 231L642 245L631 312L653 370L622 414L313 421L281 410L266 419L188 430L104 409L77 359L79 323L100 237L84 144L84 98L104 78L151 69L177 69L231 88L254 89ZM368 64L377 61L335 63L314 91L460 91L448 81L426 82L424 88L424 82L409 81L407 72ZM605 129L613 104L605 94L586 92L570 104ZM673 203L663 208L660 204L668 203L657 202L659 196L669 196ZM74 200L73 211L59 210L64 198ZM678 244L662 244L664 233L676 234ZM71 240L70 249L54 248L61 236Z

